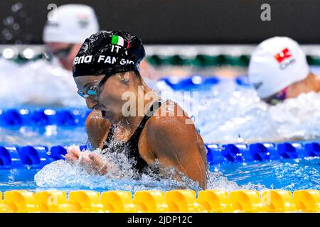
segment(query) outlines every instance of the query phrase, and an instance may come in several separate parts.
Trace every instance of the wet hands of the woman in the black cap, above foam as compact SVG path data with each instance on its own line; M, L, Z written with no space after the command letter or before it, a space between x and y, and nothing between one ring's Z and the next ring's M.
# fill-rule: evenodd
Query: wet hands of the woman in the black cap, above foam
M80 160L80 165L84 167L87 172L95 172L99 175L105 175L107 173L107 165L99 155L95 153L81 152L75 147L68 148L67 152L68 154L65 155L65 159L71 163Z

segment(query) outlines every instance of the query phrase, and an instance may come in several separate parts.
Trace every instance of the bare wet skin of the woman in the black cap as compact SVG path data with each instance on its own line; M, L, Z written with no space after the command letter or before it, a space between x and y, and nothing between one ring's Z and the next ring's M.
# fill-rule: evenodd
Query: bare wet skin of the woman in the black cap
M103 75L75 77L75 82L78 89L86 92L92 84L99 83L103 77ZM102 85L98 96L86 99L87 107L95 109L85 123L92 148L102 149L111 123L117 124L114 132L115 140L127 141L136 131L144 114L123 116L122 105L127 99L122 100L122 94L129 91L138 97L139 85L144 86L144 93L151 91L134 72L114 74ZM157 99L159 98L154 94L150 99L144 100L144 104L150 105ZM177 116L177 113L182 112L183 110L172 101L161 104L149 118L140 135L139 154L149 165L159 160L165 167L176 167L206 189L206 148L194 124L186 124L186 121L190 122L191 119L186 114ZM65 157L73 162L78 160L80 155L82 165L90 167L93 172L101 175L107 172L107 165L97 154L84 154L80 153L80 150L70 148ZM176 179L179 179L178 174Z

